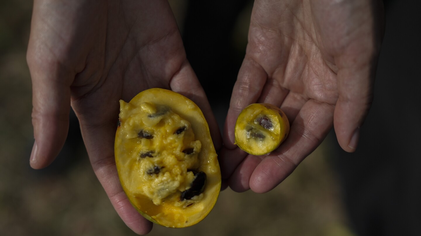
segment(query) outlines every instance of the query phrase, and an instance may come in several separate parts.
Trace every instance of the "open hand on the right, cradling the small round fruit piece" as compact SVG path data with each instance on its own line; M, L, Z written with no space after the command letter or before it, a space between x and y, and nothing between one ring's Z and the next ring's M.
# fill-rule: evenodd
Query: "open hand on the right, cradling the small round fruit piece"
M373 100L383 24L377 0L255 0L220 153L231 189L272 190L332 126L341 147L355 151ZM247 155L234 144L237 116L255 102L280 107L291 124L269 155Z

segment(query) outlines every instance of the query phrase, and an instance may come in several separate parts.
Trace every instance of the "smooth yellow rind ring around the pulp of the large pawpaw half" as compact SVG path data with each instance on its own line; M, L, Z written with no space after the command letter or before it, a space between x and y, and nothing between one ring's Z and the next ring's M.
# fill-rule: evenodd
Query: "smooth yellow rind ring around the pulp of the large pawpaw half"
M219 191L221 189L221 172L219 169L218 159L215 148L213 146L212 139L210 137L210 131L208 123L205 120L200 108L187 97L173 92L167 89L147 89L137 94L129 103L134 105L140 105L142 102L152 102L160 105L168 105L171 107L174 113L178 114L181 118L189 121L192 125L193 132L195 133L196 139L202 143L202 151L199 153L199 160L201 165L199 170L204 171L207 175L207 181L204 190L204 197L195 207L188 207L184 209L177 209L177 207L167 206L165 202L163 205L156 206L150 201L150 199L135 197L128 191L128 187L125 186L124 180L121 178L120 173L123 170L123 165L120 164L120 144L121 137L119 136L119 128L117 128L116 139L115 139L115 160L117 165L117 171L119 173L120 183L125 191L129 201L135 207L135 209L146 219L166 227L172 228L184 228L192 226L203 220L212 210L218 199ZM120 121L123 125L124 121ZM210 166L212 165L212 166ZM203 205L200 205L203 204ZM179 212L178 212L179 211ZM153 214L148 214L152 212ZM162 215L170 215L174 213L173 218L163 219ZM186 218L184 222L178 222L176 219Z

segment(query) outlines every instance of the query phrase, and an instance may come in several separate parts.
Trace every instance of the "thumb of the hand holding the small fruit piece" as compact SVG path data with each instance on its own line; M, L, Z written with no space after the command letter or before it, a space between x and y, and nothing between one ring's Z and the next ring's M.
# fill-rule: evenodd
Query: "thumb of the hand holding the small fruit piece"
M373 101L373 72L369 67L338 71L338 92L334 127L338 143L347 152L354 152L360 126Z

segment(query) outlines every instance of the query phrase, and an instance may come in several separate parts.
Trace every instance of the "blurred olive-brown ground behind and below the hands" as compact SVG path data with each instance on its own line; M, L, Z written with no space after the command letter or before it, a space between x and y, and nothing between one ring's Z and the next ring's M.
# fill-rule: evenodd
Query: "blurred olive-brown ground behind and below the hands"
M184 1L171 4L182 21ZM77 123L55 163L43 170L29 167L34 139L25 53L31 10L29 1L0 2L0 235L134 235L96 179ZM247 16L240 14L234 31L239 50L246 44ZM220 125L228 102L212 103ZM328 150L322 144L269 193L226 189L202 222L183 229L155 225L150 235L352 236Z

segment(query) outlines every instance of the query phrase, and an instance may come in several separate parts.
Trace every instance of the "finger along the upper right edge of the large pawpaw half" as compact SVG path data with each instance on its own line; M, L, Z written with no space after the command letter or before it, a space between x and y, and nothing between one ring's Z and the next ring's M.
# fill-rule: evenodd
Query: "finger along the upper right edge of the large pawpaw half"
M213 145L215 145L216 150L221 149L221 133L218 128L218 123L212 113L205 91L187 60L181 65L180 70L173 75L173 78L170 81L170 87L174 92L183 94L200 107L208 122Z

